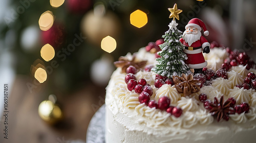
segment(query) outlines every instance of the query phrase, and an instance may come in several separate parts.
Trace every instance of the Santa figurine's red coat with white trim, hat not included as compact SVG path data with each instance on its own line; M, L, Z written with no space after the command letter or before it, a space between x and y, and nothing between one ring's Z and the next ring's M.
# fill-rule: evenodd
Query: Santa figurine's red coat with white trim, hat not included
M210 43L203 36L190 46L183 38L180 38L180 42L186 46L184 53L187 55L187 60L185 60L185 63L188 64L189 68L203 68L207 66L207 61L204 60L202 52L204 47L210 46Z

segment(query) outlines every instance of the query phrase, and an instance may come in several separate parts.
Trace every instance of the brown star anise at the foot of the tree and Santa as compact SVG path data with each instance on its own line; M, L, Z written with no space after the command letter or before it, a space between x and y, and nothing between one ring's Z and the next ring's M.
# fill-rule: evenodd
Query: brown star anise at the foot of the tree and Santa
M200 90L200 87L197 85L200 81L193 79L192 74L188 76L182 74L182 77L173 76L173 80L177 91L183 93L184 96L189 96L191 93L195 93Z

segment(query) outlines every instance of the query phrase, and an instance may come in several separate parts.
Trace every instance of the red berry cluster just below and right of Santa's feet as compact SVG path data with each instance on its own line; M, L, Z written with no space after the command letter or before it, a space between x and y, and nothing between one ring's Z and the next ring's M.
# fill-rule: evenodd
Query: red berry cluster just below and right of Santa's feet
M199 84L200 88L204 86L209 86L211 85L211 81L216 79L216 78L224 78L228 79L227 76L227 71L224 69L218 69L215 73L214 70L208 69L207 67L203 68L203 74L195 74L194 79L199 80L201 83Z

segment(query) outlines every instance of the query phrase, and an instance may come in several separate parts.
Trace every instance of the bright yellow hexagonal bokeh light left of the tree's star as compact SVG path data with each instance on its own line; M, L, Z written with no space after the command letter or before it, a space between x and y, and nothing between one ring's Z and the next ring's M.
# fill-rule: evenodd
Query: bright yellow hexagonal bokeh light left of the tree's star
M137 28L142 28L147 23L147 15L141 10L136 10L130 15L131 24Z

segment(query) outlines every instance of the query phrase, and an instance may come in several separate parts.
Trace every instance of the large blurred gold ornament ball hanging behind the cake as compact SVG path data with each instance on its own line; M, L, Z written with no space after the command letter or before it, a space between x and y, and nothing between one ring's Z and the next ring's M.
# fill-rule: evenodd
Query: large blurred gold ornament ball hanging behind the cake
M102 15L89 11L82 18L81 30L88 41L100 45L101 40L106 36L111 36L115 39L118 37L120 21L116 14L110 11Z

